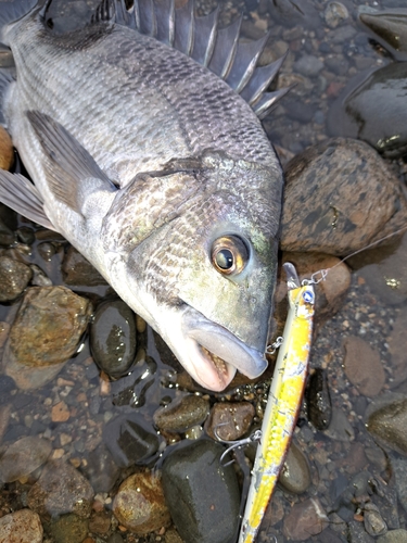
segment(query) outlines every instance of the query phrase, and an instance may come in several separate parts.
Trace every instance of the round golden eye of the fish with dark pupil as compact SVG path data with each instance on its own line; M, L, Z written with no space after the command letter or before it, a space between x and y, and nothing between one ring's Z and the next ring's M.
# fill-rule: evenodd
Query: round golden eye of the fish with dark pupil
M212 264L222 275L240 274L249 261L249 251L238 236L222 236L214 241L211 251Z

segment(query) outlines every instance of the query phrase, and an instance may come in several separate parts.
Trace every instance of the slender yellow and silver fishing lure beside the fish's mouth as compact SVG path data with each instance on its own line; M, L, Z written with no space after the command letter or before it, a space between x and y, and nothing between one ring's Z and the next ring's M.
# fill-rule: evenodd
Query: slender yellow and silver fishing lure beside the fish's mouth
M289 316L263 418L239 543L254 541L282 468L298 415L308 371L314 320L314 283L300 283L295 267L283 264Z

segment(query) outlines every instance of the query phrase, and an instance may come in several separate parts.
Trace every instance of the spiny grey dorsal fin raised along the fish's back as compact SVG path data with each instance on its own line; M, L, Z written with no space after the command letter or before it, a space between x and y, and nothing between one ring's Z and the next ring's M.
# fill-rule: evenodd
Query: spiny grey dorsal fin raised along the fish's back
M241 18L218 29L219 9L196 17L194 0L179 9L174 8L174 0L135 0L131 10L126 9L125 0L102 0L94 20L114 20L191 56L241 94L260 118L289 90L267 92L284 58L257 66L268 35L257 41L240 42Z

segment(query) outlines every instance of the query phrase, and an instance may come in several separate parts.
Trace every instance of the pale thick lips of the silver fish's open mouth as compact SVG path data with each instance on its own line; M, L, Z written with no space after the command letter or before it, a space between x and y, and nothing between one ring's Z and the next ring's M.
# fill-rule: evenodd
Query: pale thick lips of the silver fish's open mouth
M220 389L224 390L234 377L236 370L239 371L250 379L259 377L267 368L267 359L265 353L246 345L237 338L232 332L222 326L213 323L207 319L202 313L198 312L190 305L186 304L186 310L182 314L182 332L186 338L188 338L189 343L194 343L195 356L191 359L196 359L193 362L194 369L196 374L202 375L202 369L199 367L202 362L204 362L205 375L202 376L201 381L206 382L205 387L208 387L208 375L206 371L208 367L212 366L212 374L214 370L219 379ZM225 369L221 371L208 354L205 353L204 349L215 354L225 364ZM212 375L212 377L214 377ZM211 379L212 381L212 379ZM214 384L209 387L213 390Z

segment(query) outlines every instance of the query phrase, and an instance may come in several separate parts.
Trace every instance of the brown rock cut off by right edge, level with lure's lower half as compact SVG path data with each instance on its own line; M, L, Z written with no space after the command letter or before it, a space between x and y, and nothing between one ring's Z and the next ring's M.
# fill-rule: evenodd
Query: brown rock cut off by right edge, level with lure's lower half
M384 405L370 414L367 428L369 432L384 442L386 446L407 455L407 400Z

